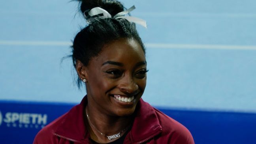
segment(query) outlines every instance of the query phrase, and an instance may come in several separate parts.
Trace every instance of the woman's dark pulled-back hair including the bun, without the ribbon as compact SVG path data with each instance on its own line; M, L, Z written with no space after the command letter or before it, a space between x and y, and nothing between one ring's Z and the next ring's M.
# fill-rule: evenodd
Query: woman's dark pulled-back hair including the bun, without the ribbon
M116 0L78 0L81 3L81 12L85 12L94 7L101 7L108 11L113 17L117 13L124 11L124 6ZM83 28L75 36L72 46L73 65L76 67L76 61L80 60L87 66L91 58L97 56L102 47L111 41L133 38L142 47L145 54L145 47L136 30L136 25L126 19L100 19L94 18L88 26ZM77 85L80 87L81 80L77 79Z

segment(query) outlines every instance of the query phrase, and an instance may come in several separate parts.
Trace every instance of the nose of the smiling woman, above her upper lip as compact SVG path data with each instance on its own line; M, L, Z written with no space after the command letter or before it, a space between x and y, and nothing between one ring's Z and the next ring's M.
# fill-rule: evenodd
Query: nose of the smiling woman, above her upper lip
M134 82L132 77L126 76L120 80L118 85L119 90L126 95L136 95L138 93L139 86Z

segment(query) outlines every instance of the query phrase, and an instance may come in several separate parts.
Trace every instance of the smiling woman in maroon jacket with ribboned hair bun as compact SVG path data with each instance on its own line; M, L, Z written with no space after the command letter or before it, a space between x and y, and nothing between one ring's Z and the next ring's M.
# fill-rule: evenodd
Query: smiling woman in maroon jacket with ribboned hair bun
M82 0L81 11L88 26L75 36L72 58L87 95L34 144L194 144L183 125L141 99L147 62L134 22L143 21L123 17L128 11L113 0Z

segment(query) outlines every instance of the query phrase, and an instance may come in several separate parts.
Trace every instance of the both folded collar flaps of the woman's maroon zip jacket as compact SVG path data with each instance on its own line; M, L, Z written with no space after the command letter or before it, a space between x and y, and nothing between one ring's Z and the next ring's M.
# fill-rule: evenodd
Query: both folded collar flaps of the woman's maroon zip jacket
M56 134L61 137L73 139L79 142L88 141L90 137L84 120L84 109L87 105L87 96L83 98L79 105L73 107L66 116L58 123ZM130 140L132 142L140 142L162 131L158 117L154 108L149 103L139 100L136 107L136 116L132 125ZM127 135L127 136L128 136Z

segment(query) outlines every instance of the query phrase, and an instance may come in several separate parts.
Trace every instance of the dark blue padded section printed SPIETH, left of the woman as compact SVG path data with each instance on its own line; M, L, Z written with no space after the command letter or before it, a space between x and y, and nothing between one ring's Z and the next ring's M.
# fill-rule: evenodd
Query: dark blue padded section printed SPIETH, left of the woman
M73 105L64 103L0 101L1 144L32 144L36 133L45 125L45 121L46 124L50 123L67 112ZM7 117L6 114L8 115ZM9 116L9 114L11 115ZM19 118L16 119L17 114L19 114ZM30 116L26 114L30 114ZM37 115L34 116L36 117L34 118L36 119L35 123L33 123L32 114ZM39 115L41 115L40 121L38 121ZM47 117L45 118L44 115Z

